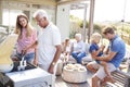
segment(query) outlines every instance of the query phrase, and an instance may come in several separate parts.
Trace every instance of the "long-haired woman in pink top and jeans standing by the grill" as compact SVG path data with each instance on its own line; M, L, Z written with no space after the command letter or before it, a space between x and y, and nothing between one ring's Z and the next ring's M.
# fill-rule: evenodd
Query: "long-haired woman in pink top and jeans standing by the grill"
M37 40L37 30L29 25L28 17L25 14L17 15L15 34L18 34L17 54L18 60L24 59L29 63L36 63L36 46L32 46Z

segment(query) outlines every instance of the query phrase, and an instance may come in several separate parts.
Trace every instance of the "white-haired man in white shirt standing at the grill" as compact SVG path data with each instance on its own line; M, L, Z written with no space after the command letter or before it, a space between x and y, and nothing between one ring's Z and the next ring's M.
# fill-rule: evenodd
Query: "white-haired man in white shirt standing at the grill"
M54 24L49 22L46 11L36 11L34 17L42 28L38 36L38 65L44 71L54 74L55 64L62 52L60 30Z

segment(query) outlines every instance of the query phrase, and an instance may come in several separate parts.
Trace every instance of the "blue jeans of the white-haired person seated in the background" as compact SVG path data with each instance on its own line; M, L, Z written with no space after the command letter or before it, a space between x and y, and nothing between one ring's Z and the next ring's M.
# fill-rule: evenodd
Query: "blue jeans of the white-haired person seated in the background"
M75 58L75 60L77 61L77 63L81 63L82 58L86 57L86 52L72 52L73 58Z

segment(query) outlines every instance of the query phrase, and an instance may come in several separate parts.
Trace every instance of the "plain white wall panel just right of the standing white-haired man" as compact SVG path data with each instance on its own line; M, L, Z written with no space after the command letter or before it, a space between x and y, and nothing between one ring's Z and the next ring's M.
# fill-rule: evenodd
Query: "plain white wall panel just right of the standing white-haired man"
M56 26L61 30L62 41L69 37L69 9L70 4L57 5Z

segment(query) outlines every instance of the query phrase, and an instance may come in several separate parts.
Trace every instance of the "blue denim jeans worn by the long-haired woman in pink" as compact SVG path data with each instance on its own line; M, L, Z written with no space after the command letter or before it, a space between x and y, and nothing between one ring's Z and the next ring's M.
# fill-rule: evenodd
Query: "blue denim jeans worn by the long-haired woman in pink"
M16 57L18 58L18 60L22 60L23 55L21 53L17 53ZM24 57L24 60L26 60L27 62L31 63L34 62L35 59L35 52L31 53L27 53Z

